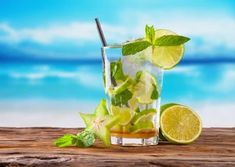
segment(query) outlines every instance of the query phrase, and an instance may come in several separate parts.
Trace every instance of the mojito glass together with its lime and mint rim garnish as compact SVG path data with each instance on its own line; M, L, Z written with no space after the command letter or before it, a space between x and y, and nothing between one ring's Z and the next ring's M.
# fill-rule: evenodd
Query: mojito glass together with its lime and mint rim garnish
M163 69L182 58L188 40L146 26L145 38L102 48L104 86L111 115L112 144L155 145L159 139Z

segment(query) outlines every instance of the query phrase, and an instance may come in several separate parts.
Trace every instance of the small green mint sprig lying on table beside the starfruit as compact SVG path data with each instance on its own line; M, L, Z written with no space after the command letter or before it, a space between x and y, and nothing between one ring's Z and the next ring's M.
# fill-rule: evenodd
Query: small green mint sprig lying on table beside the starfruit
M95 142L95 135L88 131L84 130L77 135L65 134L64 136L55 140L54 144L57 147L90 147Z

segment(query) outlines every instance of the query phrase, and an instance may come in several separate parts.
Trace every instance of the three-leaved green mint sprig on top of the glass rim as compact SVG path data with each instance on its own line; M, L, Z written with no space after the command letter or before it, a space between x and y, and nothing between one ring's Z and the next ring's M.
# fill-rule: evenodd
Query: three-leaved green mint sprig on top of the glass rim
M152 46L178 46L188 42L190 38L181 35L163 35L156 38L156 31L153 26L145 26L145 38L128 42L122 46L122 55L136 54Z

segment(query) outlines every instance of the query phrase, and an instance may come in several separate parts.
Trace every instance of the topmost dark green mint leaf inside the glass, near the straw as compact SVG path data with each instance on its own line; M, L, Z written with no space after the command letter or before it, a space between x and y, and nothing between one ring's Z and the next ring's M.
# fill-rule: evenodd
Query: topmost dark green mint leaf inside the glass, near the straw
M115 80L122 80L124 81L126 79L126 76L123 73L122 70L122 62L121 60L118 60L116 62L111 62L111 77Z

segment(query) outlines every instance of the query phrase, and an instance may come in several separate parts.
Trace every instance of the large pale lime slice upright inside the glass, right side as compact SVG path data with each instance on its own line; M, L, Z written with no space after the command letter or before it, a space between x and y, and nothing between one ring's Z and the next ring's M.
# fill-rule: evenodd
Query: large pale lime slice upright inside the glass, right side
M157 81L149 72L139 71L136 74L136 82L133 91L139 103L150 104L159 97Z

